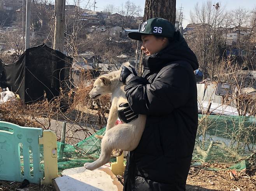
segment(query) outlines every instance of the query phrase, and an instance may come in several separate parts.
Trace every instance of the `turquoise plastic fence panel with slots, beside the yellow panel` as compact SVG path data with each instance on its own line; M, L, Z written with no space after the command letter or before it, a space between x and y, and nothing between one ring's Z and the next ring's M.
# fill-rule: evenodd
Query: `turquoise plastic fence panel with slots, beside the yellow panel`
M0 180L22 182L27 179L40 183L44 177L39 160L42 131L0 121Z

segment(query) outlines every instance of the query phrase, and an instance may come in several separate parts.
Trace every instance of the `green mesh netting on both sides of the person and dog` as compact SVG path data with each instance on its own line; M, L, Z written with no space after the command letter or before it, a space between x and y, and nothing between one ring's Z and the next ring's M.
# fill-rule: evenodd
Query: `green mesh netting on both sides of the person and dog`
M104 133L105 128L96 132L98 135ZM100 155L100 143L101 140L94 135L77 145L57 142L58 169L81 167L85 162L93 162ZM253 156L255 152L255 117L198 115L198 132L193 160L202 163L237 162L238 166L241 166L241 161L247 163L252 157L255 158ZM42 147L40 153L43 157ZM115 160L115 158L111 159L111 161ZM235 168L241 168L240 166Z

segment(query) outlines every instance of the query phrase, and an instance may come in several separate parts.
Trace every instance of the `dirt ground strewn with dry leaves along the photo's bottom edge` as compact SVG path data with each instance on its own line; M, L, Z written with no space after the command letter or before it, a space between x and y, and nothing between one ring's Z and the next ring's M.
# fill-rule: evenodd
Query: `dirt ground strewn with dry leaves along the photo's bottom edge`
M20 189L21 182L0 181L0 191L55 191L53 186L29 184ZM256 191L256 169L211 171L191 167L187 191Z

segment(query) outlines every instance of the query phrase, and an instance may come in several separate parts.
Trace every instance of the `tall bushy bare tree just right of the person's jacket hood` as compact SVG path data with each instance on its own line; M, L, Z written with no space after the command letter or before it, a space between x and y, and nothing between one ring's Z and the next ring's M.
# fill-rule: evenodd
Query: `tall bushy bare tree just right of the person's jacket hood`
M190 13L193 24L193 38L188 40L191 49L196 53L200 69L204 77L214 77L213 66L218 62L221 52L221 31L219 27L223 23L223 10L215 9L212 1L207 1L199 6L197 3L194 12Z

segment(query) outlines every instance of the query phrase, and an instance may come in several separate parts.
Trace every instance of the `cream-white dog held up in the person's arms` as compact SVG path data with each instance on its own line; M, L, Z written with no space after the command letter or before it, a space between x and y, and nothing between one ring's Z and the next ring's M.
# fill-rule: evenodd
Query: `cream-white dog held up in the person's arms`
M124 65L129 64L129 62L124 63ZM98 99L103 95L112 93L112 105L109 111L105 135L103 138L97 136L98 138L102 138L100 157L92 163L84 163L86 169L94 170L109 162L111 152L114 149L132 151L139 145L145 128L146 115L139 115L137 119L127 124L118 124L115 126L117 109L121 109L119 105L121 103L127 103L124 84L119 80L120 74L121 69L100 76L94 82L93 89L89 93L89 96L93 99Z

